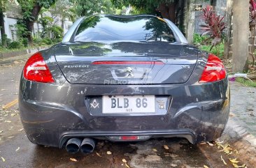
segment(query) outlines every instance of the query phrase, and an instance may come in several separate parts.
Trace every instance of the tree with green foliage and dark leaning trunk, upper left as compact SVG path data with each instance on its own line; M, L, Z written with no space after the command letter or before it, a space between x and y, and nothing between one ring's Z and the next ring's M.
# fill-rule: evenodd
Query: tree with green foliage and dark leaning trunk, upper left
M27 33L24 34L24 38L32 43L32 32L34 30L34 22L38 19L38 15L42 8L50 8L55 3L55 0L17 0L22 8L22 19L20 24L24 24L27 29Z

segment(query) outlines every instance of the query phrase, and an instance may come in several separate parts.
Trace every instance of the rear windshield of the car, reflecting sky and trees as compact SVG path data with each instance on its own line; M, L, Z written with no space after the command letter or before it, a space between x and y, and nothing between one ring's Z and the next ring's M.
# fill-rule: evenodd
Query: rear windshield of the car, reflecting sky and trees
M113 15L87 17L80 23L76 42L135 40L176 42L170 27L158 17Z

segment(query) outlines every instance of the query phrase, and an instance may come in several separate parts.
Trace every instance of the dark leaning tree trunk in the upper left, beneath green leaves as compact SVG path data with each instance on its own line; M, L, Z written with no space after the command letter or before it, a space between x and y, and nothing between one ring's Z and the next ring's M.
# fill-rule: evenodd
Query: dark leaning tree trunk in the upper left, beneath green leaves
M27 34L27 40L29 40L29 43L33 43L32 32L34 30L34 22L36 22L36 20L38 19L38 14L39 14L41 8L42 7L39 6L38 3L36 3L34 8L31 11L30 20L29 19L25 20L27 31L29 31L29 33Z

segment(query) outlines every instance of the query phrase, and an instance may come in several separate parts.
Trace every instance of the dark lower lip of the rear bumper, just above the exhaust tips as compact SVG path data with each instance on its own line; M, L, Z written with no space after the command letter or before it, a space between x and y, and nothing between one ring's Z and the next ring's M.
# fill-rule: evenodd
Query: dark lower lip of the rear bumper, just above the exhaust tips
M124 142L123 140L113 140L109 139L108 137L118 137L118 136L150 136L152 137L184 137L186 138L191 144L196 143L196 137L195 133L192 130L189 129L183 129L183 130L154 130L154 131L136 131L136 132L102 132L102 131L94 131L94 132L81 132L81 133L72 133L72 132L66 132L59 140L59 148L62 148L62 146L65 144L65 142L73 137L78 138L85 138L85 137L92 137L92 138L104 138L108 139L112 142ZM150 139L149 138L149 139ZM143 141L146 139L143 139ZM134 140L132 140L134 141ZM140 141L140 140L138 140ZM129 142L129 140L126 140L125 142Z

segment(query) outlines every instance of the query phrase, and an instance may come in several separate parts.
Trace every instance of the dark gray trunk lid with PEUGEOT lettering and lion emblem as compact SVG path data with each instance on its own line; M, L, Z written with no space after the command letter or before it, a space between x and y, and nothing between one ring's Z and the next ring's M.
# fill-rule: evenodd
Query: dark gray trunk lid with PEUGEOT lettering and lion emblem
M197 63L197 48L166 42L83 42L55 47L71 84L180 84Z

